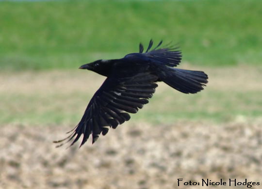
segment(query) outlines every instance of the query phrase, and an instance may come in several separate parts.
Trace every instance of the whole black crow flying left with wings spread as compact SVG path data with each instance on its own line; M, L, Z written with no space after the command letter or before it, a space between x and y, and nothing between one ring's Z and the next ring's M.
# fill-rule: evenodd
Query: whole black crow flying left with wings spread
M106 80L90 100L84 115L71 135L60 143L73 140L73 145L83 134L82 146L92 134L92 143L98 136L106 135L108 127L130 120L129 113L136 113L148 103L158 86L163 81L183 93L197 93L208 83L208 76L203 71L174 68L179 65L181 52L174 46L160 48L161 41L151 50L150 40L147 51L139 44L139 53L127 54L121 59L97 60L82 65L80 69L89 69L106 76ZM59 144L57 147L62 146Z

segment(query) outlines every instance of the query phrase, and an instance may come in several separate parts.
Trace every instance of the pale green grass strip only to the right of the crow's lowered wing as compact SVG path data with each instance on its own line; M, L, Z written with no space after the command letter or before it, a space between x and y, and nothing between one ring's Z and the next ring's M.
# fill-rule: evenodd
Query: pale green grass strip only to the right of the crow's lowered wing
M235 91L229 95L206 90L195 95L184 95L171 89L168 93L155 95L150 102L151 107L145 107L142 114L133 117L152 123L174 123L176 120L227 122L239 116L251 119L262 115L262 101L259 99L258 91Z

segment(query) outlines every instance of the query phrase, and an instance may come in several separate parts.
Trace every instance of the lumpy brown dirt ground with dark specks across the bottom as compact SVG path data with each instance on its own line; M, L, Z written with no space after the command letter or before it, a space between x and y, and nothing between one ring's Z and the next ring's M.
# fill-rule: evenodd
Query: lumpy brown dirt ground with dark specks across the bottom
M262 182L262 120L126 123L93 145L55 148L51 141L68 129L2 125L0 188L200 189L178 187L177 179L222 178L227 186L214 188L229 189L229 178Z

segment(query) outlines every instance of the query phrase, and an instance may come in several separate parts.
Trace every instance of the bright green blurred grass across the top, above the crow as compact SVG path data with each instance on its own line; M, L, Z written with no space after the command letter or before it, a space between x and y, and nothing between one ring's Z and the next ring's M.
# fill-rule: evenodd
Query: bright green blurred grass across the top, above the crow
M180 42L196 65L261 64L262 1L0 2L1 70L70 69Z

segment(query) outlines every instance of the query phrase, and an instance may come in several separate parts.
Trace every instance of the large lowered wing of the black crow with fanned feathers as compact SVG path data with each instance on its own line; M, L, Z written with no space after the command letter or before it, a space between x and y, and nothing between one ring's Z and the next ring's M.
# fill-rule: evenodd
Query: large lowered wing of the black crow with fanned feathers
M157 87L156 80L157 76L148 72L131 77L108 77L87 105L78 125L70 131L72 133L65 139L54 142L68 142L74 138L71 143L73 145L83 134L82 146L92 134L94 143L101 133L107 134L108 127L115 129L117 125L130 120L129 113L136 113L138 108L148 103Z

